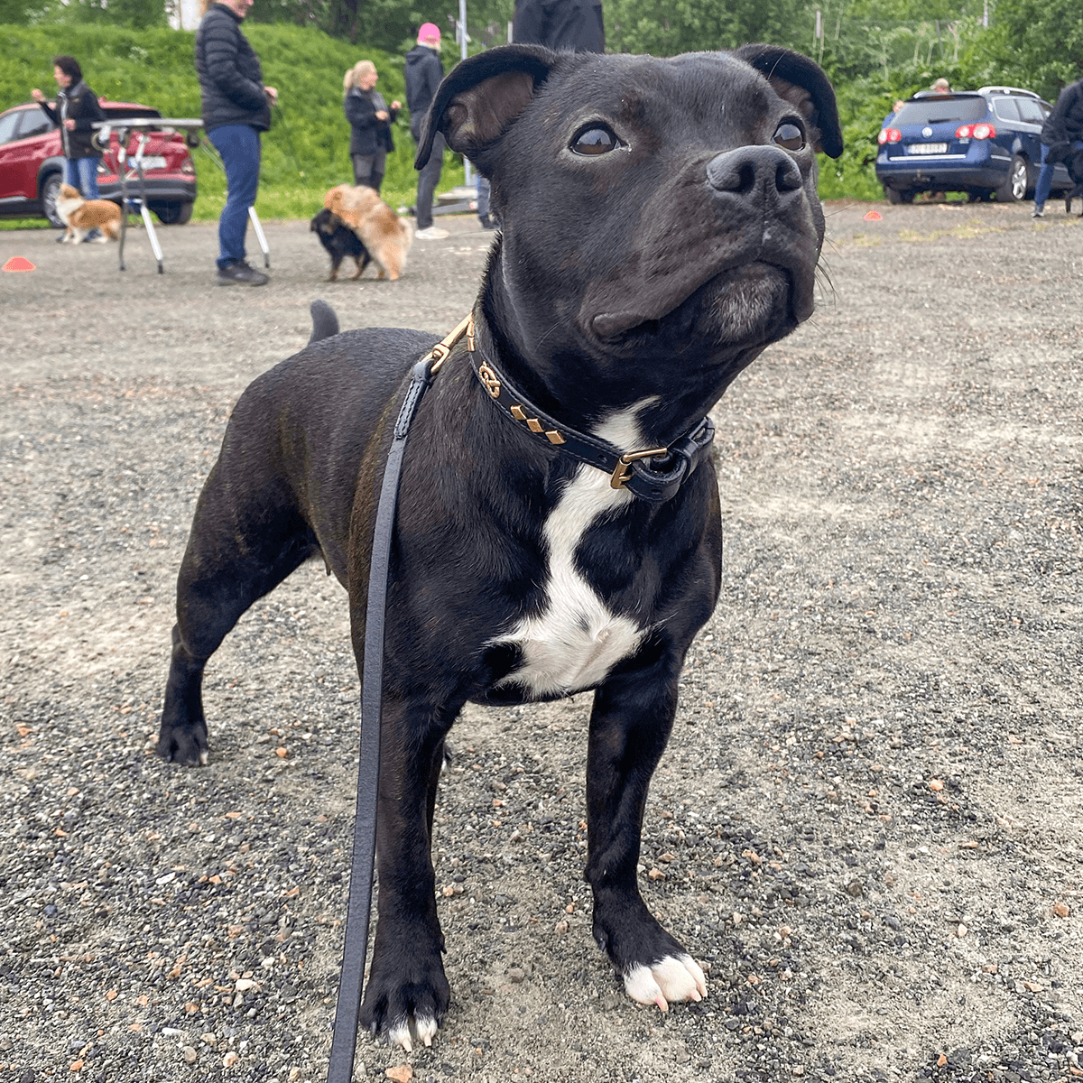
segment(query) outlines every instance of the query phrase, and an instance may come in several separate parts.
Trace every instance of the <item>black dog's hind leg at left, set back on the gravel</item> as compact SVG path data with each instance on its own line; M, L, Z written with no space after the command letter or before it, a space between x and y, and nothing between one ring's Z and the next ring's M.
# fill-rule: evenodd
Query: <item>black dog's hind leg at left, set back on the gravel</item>
M280 482L224 474L220 460L200 494L178 576L173 653L157 744L158 755L175 764L207 762L207 660L252 602L318 551Z

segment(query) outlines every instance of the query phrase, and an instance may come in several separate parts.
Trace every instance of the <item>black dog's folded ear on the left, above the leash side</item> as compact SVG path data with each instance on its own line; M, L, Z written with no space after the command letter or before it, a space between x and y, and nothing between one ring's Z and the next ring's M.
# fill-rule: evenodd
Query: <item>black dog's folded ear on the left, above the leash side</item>
M543 45L500 45L456 65L426 114L415 166L425 167L441 132L453 151L484 173L477 159L526 108L557 60L557 53Z

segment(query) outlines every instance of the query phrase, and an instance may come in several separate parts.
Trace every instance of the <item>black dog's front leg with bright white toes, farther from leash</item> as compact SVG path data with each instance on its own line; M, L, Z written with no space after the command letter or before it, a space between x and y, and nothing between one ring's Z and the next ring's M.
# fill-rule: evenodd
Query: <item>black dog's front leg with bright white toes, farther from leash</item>
M639 893L636 865L651 775L677 708L680 660L611 677L595 693L587 754L587 879L593 934L641 1004L706 996L703 970L654 919Z

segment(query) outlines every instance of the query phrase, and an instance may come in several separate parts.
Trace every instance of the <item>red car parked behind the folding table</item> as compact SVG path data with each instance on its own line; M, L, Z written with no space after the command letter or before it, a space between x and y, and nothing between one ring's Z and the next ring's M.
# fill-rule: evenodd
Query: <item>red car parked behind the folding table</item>
M161 114L134 102L102 102L107 120L155 119ZM183 133L170 128L153 129L143 152L147 206L164 225L183 225L192 218L196 198L196 169ZM139 135L132 134L128 151L135 153ZM97 166L97 188L103 199L120 203L117 175L119 143L116 132ZM138 194L135 171L129 169L129 194ZM64 180L64 153L60 130L35 102L16 105L0 114L0 217L48 218L56 214L56 193Z

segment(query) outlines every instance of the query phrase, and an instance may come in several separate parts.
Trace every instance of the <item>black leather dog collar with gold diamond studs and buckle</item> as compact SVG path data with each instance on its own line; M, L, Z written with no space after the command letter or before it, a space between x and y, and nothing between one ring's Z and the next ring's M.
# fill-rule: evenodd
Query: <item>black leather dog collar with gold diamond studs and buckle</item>
M663 504L676 496L681 484L709 454L710 442L715 439L715 427L710 418L705 417L668 447L623 452L605 440L561 425L538 409L475 349L470 350L470 365L490 399L509 421L562 454L604 470L613 488L626 488L649 504Z

